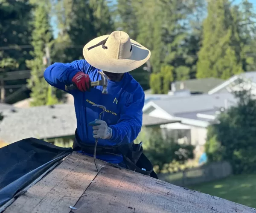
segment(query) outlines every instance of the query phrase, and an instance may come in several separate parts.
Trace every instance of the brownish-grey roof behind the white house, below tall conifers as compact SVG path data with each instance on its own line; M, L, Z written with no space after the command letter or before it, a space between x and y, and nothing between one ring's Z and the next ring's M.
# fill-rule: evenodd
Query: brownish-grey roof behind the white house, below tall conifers
M209 90L223 82L224 80L219 78L202 78L176 81L174 83L176 90L180 90L181 86L184 86L183 89L190 90L192 93L207 93ZM144 92L145 94L151 94L151 89L147 89Z

